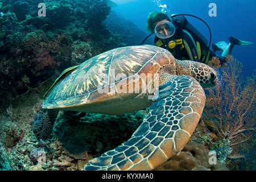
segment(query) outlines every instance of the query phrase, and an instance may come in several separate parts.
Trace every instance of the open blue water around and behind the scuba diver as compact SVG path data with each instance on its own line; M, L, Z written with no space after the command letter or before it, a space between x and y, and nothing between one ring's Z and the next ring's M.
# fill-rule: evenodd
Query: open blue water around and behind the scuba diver
M148 13L161 11L153 0L113 0L118 6L113 10L124 18L133 21L141 30L146 31ZM171 14L192 14L199 16L207 22L212 30L212 43L219 41L229 42L228 37L254 42L249 46L235 46L232 55L243 63L243 75L250 76L256 68L256 20L255 0L162 0L162 5L167 5ZM217 16L210 17L209 3L216 3ZM188 18L192 24L201 31L209 40L207 27L195 18ZM148 32L148 34L150 34ZM152 37L154 37L152 35ZM150 39L151 43L152 38ZM221 54L221 52L217 52Z

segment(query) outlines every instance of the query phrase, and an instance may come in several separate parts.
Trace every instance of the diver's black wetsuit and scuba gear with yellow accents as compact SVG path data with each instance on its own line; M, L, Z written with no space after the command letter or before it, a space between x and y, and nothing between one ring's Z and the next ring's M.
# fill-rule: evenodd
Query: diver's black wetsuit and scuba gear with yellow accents
M175 16L171 20L176 28L175 34L168 39L159 39L155 36L155 45L168 49L179 60L193 60L207 64L212 57L217 56L221 65L226 62L225 57L216 55L208 50L207 39L183 16ZM175 41L176 46L168 47L168 43ZM171 45L175 45L172 43Z

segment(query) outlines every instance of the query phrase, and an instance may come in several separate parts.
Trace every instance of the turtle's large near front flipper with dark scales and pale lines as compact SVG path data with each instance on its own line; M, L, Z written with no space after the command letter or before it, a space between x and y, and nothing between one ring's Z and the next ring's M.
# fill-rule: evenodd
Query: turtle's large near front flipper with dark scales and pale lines
M168 77L132 137L89 161L85 170L151 170L188 142L203 113L203 88L189 76Z

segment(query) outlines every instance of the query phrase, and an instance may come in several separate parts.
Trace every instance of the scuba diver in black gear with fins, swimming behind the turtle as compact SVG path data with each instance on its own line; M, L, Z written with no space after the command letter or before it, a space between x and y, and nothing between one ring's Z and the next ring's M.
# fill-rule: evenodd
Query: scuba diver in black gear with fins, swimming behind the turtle
M217 56L223 67L226 62L225 57L231 54L235 45L252 44L251 42L245 42L230 36L229 44L221 41L213 44L212 49L210 49L210 43L208 46L207 39L188 22L184 15L187 14L171 15L171 18L169 18L167 14L152 12L147 17L147 30L151 32L150 35L155 34L155 46L168 49L176 59L193 60L208 64L212 57ZM197 16L193 17L198 18ZM204 20L202 21L204 22ZM207 27L209 28L208 24ZM210 32L210 41L211 37ZM223 51L221 56L216 55L215 52L221 50Z

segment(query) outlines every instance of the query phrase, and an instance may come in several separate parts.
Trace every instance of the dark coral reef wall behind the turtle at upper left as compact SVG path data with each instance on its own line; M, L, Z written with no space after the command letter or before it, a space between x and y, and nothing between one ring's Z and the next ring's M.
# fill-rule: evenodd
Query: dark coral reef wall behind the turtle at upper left
M50 76L92 56L123 46L104 26L108 1L3 1L0 9L0 107ZM97 19L97 20L96 20ZM5 97L5 96L8 97Z

